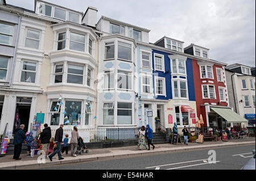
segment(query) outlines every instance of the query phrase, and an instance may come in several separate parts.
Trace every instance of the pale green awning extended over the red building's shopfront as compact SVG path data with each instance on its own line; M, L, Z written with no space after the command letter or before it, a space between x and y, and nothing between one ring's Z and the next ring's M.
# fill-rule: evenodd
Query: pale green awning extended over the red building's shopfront
M223 117L228 123L248 123L248 120L238 115L236 112L232 111L230 108L219 108L210 107L218 115Z

